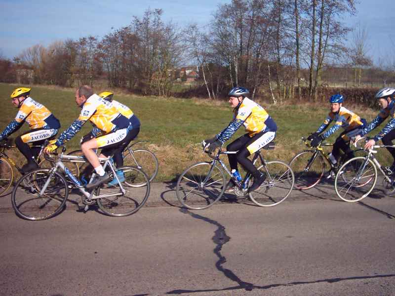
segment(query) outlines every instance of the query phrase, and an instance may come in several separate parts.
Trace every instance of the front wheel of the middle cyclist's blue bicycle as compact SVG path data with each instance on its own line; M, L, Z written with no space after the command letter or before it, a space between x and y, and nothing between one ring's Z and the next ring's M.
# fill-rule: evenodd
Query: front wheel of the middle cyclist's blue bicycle
M207 209L224 191L224 172L210 162L198 162L187 168L178 178L176 187L178 200L191 210Z

